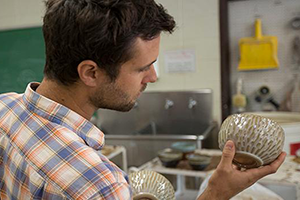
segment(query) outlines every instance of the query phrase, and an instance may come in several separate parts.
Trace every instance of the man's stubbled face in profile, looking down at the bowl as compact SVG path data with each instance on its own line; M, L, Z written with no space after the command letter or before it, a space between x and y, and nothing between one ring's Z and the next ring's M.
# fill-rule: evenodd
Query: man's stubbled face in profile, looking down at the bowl
M150 41L138 38L133 47L133 58L121 66L115 82L108 78L105 84L99 85L91 102L98 108L129 111L147 83L157 80L153 63L158 57L159 43L160 37Z

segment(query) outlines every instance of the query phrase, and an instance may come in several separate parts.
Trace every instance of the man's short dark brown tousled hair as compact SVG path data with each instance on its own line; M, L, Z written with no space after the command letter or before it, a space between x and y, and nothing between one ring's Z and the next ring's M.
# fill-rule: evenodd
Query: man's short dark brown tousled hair
M93 60L114 81L138 37L151 40L174 28L173 17L154 0L48 0L44 74L70 85L79 78L78 64Z

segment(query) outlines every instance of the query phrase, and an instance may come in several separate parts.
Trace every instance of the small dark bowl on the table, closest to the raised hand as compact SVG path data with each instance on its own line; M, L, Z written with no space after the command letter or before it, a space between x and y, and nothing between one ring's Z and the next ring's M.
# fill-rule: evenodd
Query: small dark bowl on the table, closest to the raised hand
M211 161L211 157L200 155L197 153L188 154L186 157L189 162L189 165L194 170L204 170L210 164Z

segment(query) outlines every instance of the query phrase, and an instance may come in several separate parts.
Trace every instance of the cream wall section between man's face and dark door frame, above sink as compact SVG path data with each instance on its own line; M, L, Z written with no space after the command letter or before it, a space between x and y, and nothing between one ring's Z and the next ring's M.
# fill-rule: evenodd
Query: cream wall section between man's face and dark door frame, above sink
M221 72L218 0L159 0L177 22L172 35L163 35L159 57L159 79L148 86L153 90L211 88L213 117L221 120ZM193 49L196 72L166 73L164 52Z

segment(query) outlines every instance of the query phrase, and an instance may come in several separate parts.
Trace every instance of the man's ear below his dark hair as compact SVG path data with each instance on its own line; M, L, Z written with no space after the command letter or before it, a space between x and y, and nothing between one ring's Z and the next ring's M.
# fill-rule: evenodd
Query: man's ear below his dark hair
M77 66L77 71L80 80L85 85L95 87L97 86L97 81L99 81L99 76L102 70L100 70L94 61L84 60Z

